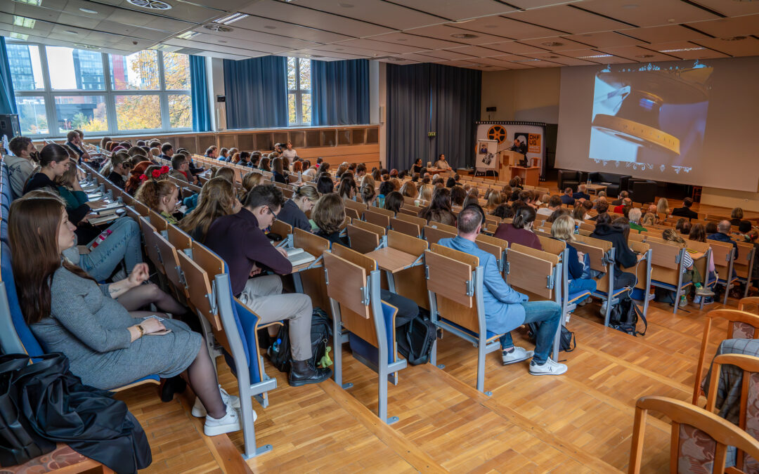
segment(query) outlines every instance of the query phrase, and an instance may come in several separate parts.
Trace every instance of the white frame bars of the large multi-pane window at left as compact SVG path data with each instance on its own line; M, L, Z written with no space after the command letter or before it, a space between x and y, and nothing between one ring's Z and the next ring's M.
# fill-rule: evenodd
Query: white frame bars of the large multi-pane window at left
M186 95L190 96L192 104L192 83L191 89L166 89L165 74L164 74L164 60L163 52L156 50L158 59L158 73L160 88L157 90L116 90L111 83L111 65L109 61L109 53L101 52L100 57L102 60L102 71L105 76L106 88L103 90L85 90L85 89L52 89L50 83L49 64L47 60L47 48L46 46L38 42L26 42L26 41L8 41L8 45L22 45L22 46L37 46L39 48L39 61L42 63L42 74L44 89L35 90L17 90L14 88L14 95L16 97L39 97L42 96L45 100L46 118L48 121L48 133L37 133L29 135L33 140L54 138L65 138L66 133L58 131L58 112L55 110L55 97L56 96L105 96L106 99L106 118L108 121L108 130L102 131L90 131L87 132L87 137L117 137L124 135L135 135L140 133L181 133L191 132L192 125L190 127L178 127L172 128L171 119L168 112L168 96ZM87 51L87 49L83 50ZM12 77L11 77L12 80ZM118 121L116 118L116 96L142 96L142 95L158 95L159 105L161 113L161 127L151 129L140 130L118 130ZM23 132L22 132L23 133Z

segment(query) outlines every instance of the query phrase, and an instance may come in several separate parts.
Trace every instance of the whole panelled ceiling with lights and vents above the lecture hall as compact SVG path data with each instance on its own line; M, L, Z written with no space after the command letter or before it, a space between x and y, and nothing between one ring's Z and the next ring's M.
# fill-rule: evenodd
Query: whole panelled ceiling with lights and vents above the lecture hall
M40 5L28 2L39 1ZM0 34L128 54L483 71L759 55L759 0L0 0ZM155 5L155 4L154 4ZM247 14L219 25L230 14ZM36 20L33 28L15 17ZM228 28L228 31L207 27ZM23 36L22 36L23 37ZM81 47L81 46L79 46Z

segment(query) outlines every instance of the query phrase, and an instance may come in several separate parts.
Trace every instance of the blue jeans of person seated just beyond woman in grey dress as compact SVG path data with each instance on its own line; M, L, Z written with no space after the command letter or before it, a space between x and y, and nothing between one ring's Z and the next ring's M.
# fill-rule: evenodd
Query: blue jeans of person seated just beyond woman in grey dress
M121 260L131 273L134 265L142 262L140 248L140 225L130 217L116 219L111 227L111 234L106 237L92 252L83 253L79 266L96 281L109 278ZM93 240L94 241L94 240ZM89 247L92 242L87 243Z

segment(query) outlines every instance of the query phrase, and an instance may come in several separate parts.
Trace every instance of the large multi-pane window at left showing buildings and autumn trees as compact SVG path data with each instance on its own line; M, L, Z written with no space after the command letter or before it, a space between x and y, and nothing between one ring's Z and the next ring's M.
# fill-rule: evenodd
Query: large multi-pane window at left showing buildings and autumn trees
M190 130L190 57L146 49L109 55L8 41L21 133L65 137Z

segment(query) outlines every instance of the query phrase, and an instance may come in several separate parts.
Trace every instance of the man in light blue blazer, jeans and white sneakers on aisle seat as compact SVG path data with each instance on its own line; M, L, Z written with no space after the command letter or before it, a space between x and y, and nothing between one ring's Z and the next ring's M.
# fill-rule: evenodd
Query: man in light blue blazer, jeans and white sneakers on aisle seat
M458 214L458 236L442 239L438 243L480 259L480 266L484 270L485 325L490 332L504 334L501 337L503 364L518 363L532 357L531 375L563 374L567 371L567 366L556 363L549 357L562 316L561 305L555 301L528 302L527 295L519 293L503 281L496 257L480 250L476 243L484 220L485 214L480 206L467 206ZM510 333L528 322L540 323L534 352L515 347Z

